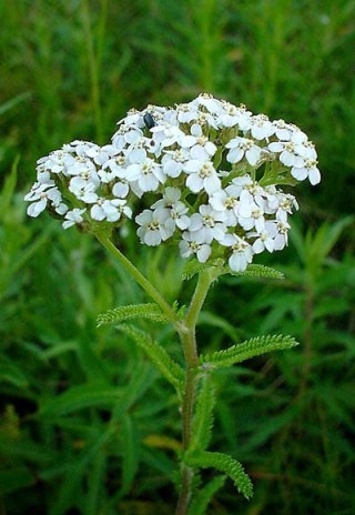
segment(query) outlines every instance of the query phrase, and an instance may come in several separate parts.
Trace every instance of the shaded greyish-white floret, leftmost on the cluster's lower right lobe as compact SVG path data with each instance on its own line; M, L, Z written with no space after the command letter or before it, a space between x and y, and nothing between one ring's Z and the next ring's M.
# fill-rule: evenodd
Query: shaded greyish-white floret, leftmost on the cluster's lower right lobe
M141 243L149 246L156 246L173 234L171 228L166 228L166 213L163 210L144 210L135 216L135 222L141 225L136 231Z

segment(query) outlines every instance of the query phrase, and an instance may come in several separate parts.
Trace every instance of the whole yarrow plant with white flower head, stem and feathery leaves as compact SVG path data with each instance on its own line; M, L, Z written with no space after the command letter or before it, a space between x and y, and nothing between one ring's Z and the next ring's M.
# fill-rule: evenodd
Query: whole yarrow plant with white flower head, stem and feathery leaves
M206 451L213 423L212 371L296 344L290 336L260 336L211 355L197 351L195 325L211 284L222 274L280 276L252 264L262 252L287 245L295 196L280 189L308 179L317 184L317 154L292 123L253 114L210 94L174 108L132 109L111 142L73 141L40 159L37 182L24 196L28 214L43 211L63 229L92 233L154 303L121 306L99 324L143 316L171 323L180 336L184 366L134 326L121 324L176 390L182 413L181 477L176 514L202 513L222 479L201 487L200 468L215 467L251 497L252 485L231 456ZM175 248L186 260L183 280L197 275L189 306L170 305L113 243L124 224L142 245ZM193 501L191 501L193 497ZM200 507L199 507L200 506Z

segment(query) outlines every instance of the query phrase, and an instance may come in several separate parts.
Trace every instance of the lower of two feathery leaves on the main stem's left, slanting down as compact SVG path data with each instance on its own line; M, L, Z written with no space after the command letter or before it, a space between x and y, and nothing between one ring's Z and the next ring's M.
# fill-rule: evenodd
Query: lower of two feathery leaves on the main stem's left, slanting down
M144 331L128 324L121 324L118 329L130 336L136 345L145 352L162 375L175 387L181 397L185 380L183 368L170 357L161 345L152 340L149 334L144 333Z

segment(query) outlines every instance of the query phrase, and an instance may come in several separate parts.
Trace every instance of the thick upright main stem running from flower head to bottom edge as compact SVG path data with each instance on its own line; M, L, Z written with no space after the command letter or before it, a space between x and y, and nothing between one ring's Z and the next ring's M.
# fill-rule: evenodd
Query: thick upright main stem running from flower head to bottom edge
M199 365L199 353L196 345L196 323L199 314L210 290L212 282L216 279L216 269L207 269L199 274L197 284L191 300L185 319L179 331L184 359L185 359L185 391L182 405L182 447L186 452L192 436L192 421L196 390L196 367ZM175 515L186 515L192 495L194 469L184 463L181 469L181 491Z

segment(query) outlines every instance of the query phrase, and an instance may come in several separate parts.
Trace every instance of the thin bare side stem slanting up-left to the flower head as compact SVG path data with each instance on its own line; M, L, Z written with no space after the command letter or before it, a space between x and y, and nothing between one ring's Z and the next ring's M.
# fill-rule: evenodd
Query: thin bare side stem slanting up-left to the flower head
M99 240L102 246L124 266L129 274L134 279L134 281L148 293L148 295L156 302L161 307L162 312L169 316L173 324L179 322L176 313L171 307L171 305L165 301L165 299L159 293L153 284L134 266L134 264L122 254L122 252L112 243L110 238L95 234L95 238Z

